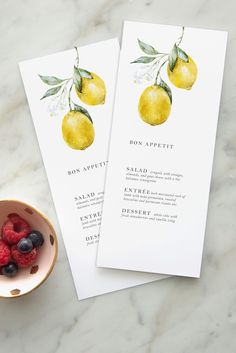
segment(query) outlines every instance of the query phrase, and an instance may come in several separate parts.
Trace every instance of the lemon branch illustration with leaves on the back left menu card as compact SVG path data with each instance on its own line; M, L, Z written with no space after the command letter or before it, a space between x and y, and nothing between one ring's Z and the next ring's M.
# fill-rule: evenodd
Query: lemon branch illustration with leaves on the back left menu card
M39 75L39 78L50 86L41 100L54 96L53 108L49 109L50 116L57 115L59 109L64 110L66 106L69 107L69 112L62 120L63 140L72 149L85 150L94 141L95 129L89 112L74 102L74 96L79 97L83 103L88 105L104 104L106 86L101 77L80 67L78 48L75 47L75 50L76 59L72 77L58 78ZM56 104L55 101L57 101Z

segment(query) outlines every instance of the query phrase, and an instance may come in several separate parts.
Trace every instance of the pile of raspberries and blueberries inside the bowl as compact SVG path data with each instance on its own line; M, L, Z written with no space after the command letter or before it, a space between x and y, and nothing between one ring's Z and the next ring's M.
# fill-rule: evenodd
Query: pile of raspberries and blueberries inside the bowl
M16 213L8 215L0 237L0 269L7 277L14 277L19 268L31 266L43 245L44 238L38 230Z

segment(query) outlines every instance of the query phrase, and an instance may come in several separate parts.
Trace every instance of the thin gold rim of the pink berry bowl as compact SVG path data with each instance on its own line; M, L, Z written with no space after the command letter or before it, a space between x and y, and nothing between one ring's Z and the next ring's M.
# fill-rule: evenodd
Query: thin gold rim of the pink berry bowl
M25 295L27 295L29 293L32 293L34 290L39 288L48 279L48 277L50 276L52 270L55 267L55 263L56 263L56 260L57 260L57 257L58 257L58 238L57 238L56 231L55 231L54 226L52 225L51 221L47 218L47 216L44 213L39 211L36 207L28 204L25 201L21 201L21 200L17 200L17 199L0 199L0 203L1 202L6 202L6 201L7 202L17 202L17 203L19 203L21 205L24 205L26 208L31 208L33 211L38 213L47 222L47 224L49 225L50 230L51 230L51 232L53 234L53 237L54 237L54 244L55 244L55 252L54 252L54 258L53 258L52 264L51 264L49 270L47 271L46 275L44 276L44 278L35 287L33 287L29 291L27 291L25 293L22 293L22 294L19 293L17 295L9 295L9 296L0 295L0 299L16 299L16 298L23 297L23 296L25 296Z

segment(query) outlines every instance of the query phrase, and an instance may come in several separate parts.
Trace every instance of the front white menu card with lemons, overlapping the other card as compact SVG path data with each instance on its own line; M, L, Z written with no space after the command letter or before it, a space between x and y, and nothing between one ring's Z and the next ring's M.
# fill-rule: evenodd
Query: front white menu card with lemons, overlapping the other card
M200 276L226 41L125 22L99 267Z

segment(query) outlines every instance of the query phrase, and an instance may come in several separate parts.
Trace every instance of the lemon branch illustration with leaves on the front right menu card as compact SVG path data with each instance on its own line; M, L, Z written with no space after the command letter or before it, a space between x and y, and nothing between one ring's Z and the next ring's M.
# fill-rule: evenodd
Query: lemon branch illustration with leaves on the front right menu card
M177 88L190 90L194 85L198 68L194 60L180 48L185 28L172 46L170 52L163 53L152 45L138 39L140 49L145 56L140 56L131 64L141 64L135 74L135 82L143 83L153 79L153 84L145 88L140 96L138 112L141 119L152 126L163 124L169 117L172 105L172 92L161 77L161 70L167 66L167 77Z

